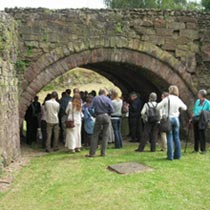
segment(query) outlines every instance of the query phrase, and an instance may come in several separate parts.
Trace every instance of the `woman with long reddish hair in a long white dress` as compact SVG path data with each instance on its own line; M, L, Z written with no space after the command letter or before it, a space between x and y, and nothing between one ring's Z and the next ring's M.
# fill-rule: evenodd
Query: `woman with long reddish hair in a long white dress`
M66 108L67 120L74 121L74 128L66 129L66 144L70 152L80 152L81 126L82 126L82 102L79 94L75 94Z

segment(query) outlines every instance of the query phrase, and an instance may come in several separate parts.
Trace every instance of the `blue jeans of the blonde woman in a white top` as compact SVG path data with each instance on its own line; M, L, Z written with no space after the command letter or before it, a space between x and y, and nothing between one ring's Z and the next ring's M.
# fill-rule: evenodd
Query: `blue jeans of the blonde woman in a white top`
M170 119L172 130L167 135L167 158L168 160L181 158L181 142L179 137L180 122L178 117Z

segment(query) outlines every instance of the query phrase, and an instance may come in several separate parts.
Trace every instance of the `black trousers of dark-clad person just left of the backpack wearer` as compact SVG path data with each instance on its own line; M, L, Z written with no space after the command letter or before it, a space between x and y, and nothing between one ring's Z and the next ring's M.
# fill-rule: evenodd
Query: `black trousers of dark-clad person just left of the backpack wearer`
M141 139L141 119L139 117L130 117L130 135L132 141L140 141Z

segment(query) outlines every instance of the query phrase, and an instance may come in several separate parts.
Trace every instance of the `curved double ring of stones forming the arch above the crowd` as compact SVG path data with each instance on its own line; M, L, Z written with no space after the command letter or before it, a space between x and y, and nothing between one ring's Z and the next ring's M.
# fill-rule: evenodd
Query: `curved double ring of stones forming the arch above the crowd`
M179 85L180 89L184 90L181 97L189 104L189 99L193 99L195 94L191 86L191 76L182 63L155 45L123 37L70 42L44 54L27 69L20 97L20 122L31 99L51 80L74 67L94 69L96 64L107 62L140 67L142 72L156 75L157 79L167 84Z

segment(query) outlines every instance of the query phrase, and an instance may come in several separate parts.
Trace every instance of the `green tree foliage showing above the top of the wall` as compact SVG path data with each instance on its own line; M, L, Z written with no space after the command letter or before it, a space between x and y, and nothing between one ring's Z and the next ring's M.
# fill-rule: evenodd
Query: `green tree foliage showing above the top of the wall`
M187 0L104 0L109 8L200 9L198 3ZM210 0L207 0L210 2Z

